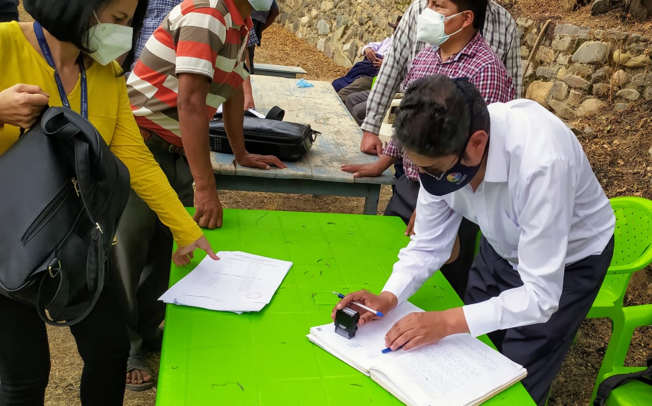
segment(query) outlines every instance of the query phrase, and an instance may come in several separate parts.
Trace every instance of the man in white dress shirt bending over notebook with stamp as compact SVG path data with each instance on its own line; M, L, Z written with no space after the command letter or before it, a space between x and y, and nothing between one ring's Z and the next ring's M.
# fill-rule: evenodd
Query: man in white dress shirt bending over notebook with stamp
M385 338L409 350L451 334L489 334L527 368L538 405L595 299L614 251L614 212L582 145L531 100L486 106L473 84L432 76L415 81L394 121L419 167L416 235L380 295L359 301L387 313L449 259L462 217L482 231L465 306L412 313ZM376 318L361 312L360 326ZM335 310L333 311L333 313Z

